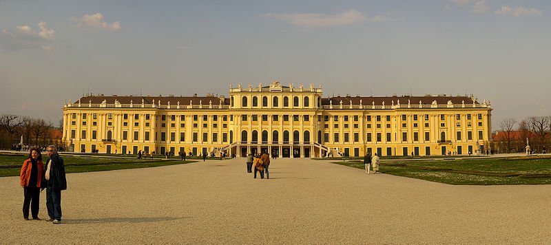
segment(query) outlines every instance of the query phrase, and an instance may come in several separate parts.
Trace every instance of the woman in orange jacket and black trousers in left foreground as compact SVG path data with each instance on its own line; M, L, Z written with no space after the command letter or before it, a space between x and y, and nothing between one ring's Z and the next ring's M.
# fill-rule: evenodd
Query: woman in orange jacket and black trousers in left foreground
M32 148L28 158L21 166L21 187L23 187L23 218L29 220L29 207L32 220L40 220L40 188L43 175L42 154L39 149Z

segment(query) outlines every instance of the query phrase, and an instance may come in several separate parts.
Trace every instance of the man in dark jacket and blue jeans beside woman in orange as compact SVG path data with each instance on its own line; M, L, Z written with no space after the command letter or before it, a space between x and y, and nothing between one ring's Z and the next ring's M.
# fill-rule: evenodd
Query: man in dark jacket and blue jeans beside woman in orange
M65 165L63 158L57 153L57 148L50 145L48 149L50 159L46 164L44 172L46 187L46 207L48 208L48 221L54 224L61 223L61 191L67 189L67 180L65 179Z

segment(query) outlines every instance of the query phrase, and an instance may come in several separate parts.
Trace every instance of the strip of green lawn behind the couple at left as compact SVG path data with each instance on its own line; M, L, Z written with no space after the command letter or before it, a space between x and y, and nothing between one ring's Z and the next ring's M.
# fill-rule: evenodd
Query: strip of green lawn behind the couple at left
M63 153L60 154L65 162L65 171L67 173L81 173L92 171L108 171L116 169L138 169L144 167L158 167L174 164L185 164L188 162L195 162L194 160L182 161L180 158L171 158L165 160L164 157L154 157L153 159L136 159L125 158L123 156L110 156L110 155L84 155L84 156L66 156ZM27 158L22 154L0 154L0 177L3 176L17 176L21 171L21 164ZM48 159L48 155L42 155L43 162Z

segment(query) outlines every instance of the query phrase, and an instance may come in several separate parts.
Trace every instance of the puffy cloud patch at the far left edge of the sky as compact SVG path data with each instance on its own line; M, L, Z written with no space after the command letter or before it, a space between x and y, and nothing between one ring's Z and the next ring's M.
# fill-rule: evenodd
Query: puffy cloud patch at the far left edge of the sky
M4 29L0 35L0 45L2 50L37 50L52 52L52 41L56 38L56 32L53 29L46 28L44 21L37 24L39 30L34 30L30 25L18 25L13 29Z

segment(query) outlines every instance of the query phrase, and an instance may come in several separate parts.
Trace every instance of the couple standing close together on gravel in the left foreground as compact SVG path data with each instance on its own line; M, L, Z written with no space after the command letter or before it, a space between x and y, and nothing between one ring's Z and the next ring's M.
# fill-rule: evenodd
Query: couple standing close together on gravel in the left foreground
M40 149L31 148L28 158L21 166L21 187L23 187L23 218L29 220L29 208L32 220L39 218L40 193L46 189L46 207L48 219L54 224L61 223L61 191L67 189L65 164L57 153L57 148L50 145L46 148L48 161L44 166Z

